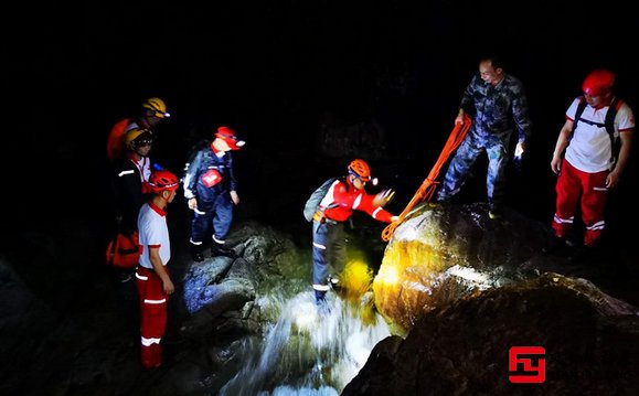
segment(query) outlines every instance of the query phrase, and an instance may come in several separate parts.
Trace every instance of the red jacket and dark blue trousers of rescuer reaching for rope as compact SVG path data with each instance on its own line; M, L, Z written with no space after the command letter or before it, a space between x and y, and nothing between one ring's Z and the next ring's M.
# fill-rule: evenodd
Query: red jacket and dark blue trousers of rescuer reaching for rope
M312 288L316 299L321 301L329 290L329 275L339 274L347 259L347 240L343 222L354 210L371 217L391 223L392 214L373 205L374 195L356 190L351 182L336 180L319 204L312 222Z

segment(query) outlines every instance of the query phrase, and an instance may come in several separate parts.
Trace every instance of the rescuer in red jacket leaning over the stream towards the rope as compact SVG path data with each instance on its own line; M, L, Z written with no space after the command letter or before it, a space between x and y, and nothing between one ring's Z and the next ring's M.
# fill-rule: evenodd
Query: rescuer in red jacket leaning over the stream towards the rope
M370 180L369 164L361 159L353 160L348 167L348 174L332 183L313 215L312 288L318 306L324 301L331 286L339 282L338 274L347 260L343 223L351 217L353 211L365 212L384 223L397 221L397 216L383 208L393 195L392 191L370 195L364 189Z

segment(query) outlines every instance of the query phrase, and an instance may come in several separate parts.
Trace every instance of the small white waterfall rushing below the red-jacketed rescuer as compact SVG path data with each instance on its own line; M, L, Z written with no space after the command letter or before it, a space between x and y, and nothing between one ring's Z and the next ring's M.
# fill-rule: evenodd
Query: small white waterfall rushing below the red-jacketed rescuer
M277 319L265 329L259 353L247 353L246 364L220 389L221 396L337 396L373 346L391 335L381 315L366 324L361 306L334 293L321 309L312 292L288 300L265 297L258 303Z

